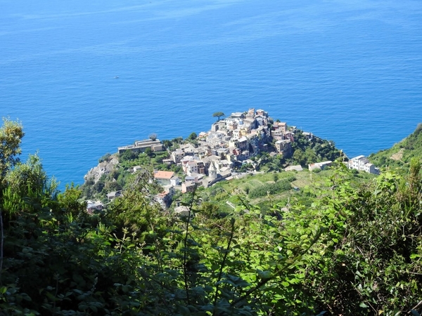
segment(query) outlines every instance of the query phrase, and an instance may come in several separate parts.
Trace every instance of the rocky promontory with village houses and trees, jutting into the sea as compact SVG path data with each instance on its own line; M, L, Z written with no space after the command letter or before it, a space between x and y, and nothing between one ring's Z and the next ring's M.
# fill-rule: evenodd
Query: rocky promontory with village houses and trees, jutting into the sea
M264 110L250 108L228 117L223 112L213 116L217 121L209 131L193 132L185 140L161 141L156 134L151 134L147 140L118 147L116 154L101 157L98 166L85 176L84 195L87 199L96 199L95 204L102 207L103 203L122 195L131 175L149 167L153 169L155 181L162 186L156 199L165 208L186 192L211 187L222 180L234 181L254 175L258 181L262 176L267 177L268 172L324 170L340 157L350 169L379 173L366 157L348 159L335 148L333 141L288 126L279 119L274 121ZM287 177L290 182L295 178L291 174ZM301 182L284 185L283 191L298 190ZM280 192L281 186L250 183L245 190L253 197Z

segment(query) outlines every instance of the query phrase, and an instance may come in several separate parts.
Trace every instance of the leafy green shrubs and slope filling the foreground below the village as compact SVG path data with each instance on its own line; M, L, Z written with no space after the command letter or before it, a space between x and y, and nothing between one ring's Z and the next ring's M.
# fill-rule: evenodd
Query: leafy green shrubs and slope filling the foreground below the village
M143 170L124 196L89 214L82 190L59 192L39 157L18 161L22 137L20 124L4 121L0 315L422 311L420 159L376 178L343 162L250 176L266 195L252 194L249 180L219 183L186 195L193 217L154 203ZM299 192L287 190L292 183Z

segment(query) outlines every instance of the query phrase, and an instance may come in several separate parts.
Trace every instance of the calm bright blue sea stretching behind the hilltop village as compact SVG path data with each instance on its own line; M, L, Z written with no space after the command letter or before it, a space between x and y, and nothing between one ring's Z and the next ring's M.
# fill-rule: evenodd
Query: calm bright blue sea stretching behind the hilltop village
M367 155L422 121L422 1L0 0L0 71L61 188L250 107Z

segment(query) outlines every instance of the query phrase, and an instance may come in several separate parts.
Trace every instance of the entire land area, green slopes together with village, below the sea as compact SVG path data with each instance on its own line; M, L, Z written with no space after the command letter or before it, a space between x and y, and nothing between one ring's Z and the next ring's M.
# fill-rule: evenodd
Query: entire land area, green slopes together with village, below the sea
M217 114L64 192L4 119L0 315L421 314L421 126L376 169L262 110Z

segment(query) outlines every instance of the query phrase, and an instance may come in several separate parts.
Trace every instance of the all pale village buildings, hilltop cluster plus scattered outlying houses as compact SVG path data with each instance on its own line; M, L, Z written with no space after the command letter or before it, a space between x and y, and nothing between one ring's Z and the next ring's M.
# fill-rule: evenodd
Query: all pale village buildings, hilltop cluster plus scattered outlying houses
M222 114L222 113L221 113ZM221 116L223 116L222 114ZM172 197L177 190L182 193L193 192L196 187L210 187L221 180L241 178L248 173L255 173L259 164L257 155L266 152L269 157L288 159L294 152L295 140L310 141L316 138L312 133L300 131L295 126L288 126L286 122L273 121L264 110L249 109L247 112L235 112L224 119L218 119L212 124L210 131L193 133L190 136L194 143L182 143L170 150L156 136L148 140L136 141L134 145L117 148L119 155L129 153L159 154L168 152L162 163L180 166L183 176L174 171L155 170L154 179L164 189L155 196L155 200L164 208L172 203ZM115 162L117 164L117 161ZM324 169L331 166L331 160L312 162L307 164L309 171ZM358 156L346 162L350 169L357 169L369 173L378 173L378 169L366 157ZM247 172L239 172L241 166L251 168ZM132 172L142 169L133 166ZM302 171L300 164L286 166L284 171ZM245 171L245 170L243 170ZM108 173L109 170L104 171ZM86 176L89 177L89 174ZM108 192L108 201L123 194L123 190ZM101 202L89 201L89 210L101 208Z

